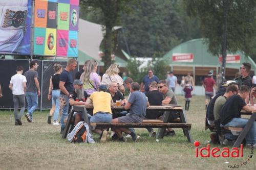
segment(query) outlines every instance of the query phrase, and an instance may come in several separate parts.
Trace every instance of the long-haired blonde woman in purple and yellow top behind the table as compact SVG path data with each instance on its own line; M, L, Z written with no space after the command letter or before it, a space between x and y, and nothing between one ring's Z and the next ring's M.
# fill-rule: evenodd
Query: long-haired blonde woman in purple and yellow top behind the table
M83 89L88 95L97 91L98 86L100 85L100 77L96 73L97 69L98 63L95 60L91 60L80 77L80 80L84 83Z

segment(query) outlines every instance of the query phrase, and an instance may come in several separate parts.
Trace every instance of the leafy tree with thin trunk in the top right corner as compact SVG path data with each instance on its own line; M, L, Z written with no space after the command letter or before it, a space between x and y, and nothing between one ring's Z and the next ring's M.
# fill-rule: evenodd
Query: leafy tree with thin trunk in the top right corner
M226 51L253 53L255 39L255 0L183 0L189 16L198 16L209 52L222 54L222 81L225 77Z

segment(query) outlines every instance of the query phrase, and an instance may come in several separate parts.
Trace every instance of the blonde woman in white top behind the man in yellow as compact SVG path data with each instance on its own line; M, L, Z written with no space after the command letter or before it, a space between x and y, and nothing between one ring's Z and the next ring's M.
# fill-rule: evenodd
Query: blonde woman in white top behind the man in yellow
M106 73L102 76L101 84L109 86L112 81L115 81L118 84L118 89L124 93L123 79L118 75L119 72L119 65L111 64L106 70Z

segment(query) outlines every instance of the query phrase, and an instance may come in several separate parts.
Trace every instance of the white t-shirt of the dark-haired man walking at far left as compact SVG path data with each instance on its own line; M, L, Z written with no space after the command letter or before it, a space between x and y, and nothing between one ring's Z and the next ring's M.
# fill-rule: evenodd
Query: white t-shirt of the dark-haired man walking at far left
M12 83L12 94L15 94L15 95L25 94L25 91L23 88L23 82L27 82L27 79L25 76L21 74L16 74L12 76L10 81L10 83Z

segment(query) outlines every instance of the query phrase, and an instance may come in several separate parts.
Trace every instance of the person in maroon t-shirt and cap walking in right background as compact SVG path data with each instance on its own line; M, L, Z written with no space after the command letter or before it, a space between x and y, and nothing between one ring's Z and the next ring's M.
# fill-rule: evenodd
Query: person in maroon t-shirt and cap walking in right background
M205 110L207 109L210 98L214 96L214 88L216 89L215 80L212 78L214 72L209 71L208 76L204 79L204 88L205 88Z

